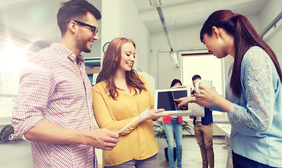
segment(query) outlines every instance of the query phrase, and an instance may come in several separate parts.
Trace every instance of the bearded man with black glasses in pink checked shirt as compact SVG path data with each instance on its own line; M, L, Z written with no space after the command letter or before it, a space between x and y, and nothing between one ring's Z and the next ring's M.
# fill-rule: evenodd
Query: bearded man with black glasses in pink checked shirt
M119 141L116 131L94 126L91 83L80 55L98 40L101 13L86 0L70 0L57 19L60 43L31 56L32 66L22 71L10 139L31 142L34 167L98 167L94 148L112 150Z

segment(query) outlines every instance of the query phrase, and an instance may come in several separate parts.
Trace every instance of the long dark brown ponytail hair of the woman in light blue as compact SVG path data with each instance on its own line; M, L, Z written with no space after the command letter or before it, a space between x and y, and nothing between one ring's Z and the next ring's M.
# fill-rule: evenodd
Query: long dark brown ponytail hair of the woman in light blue
M212 27L220 27L228 34L234 37L234 63L230 81L230 88L236 96L240 97L242 92L241 86L241 63L242 59L252 46L259 46L262 48L276 67L276 71L280 80L282 79L281 68L279 66L277 57L273 50L265 43L257 34L255 28L252 26L248 18L231 12L231 10L217 10L205 21L203 28L200 30L200 41L203 42L203 35L212 36Z

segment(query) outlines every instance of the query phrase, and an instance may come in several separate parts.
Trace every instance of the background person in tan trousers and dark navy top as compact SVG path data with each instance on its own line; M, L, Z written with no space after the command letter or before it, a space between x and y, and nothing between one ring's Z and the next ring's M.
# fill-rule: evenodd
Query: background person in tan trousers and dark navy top
M199 75L192 77L192 83L195 87L196 80L201 79ZM194 96L195 90L191 92L191 96ZM208 108L205 109L205 117L200 118L196 116L190 116L193 119L195 137L200 146L200 154L202 155L203 168L214 167L214 150L212 148L212 111Z

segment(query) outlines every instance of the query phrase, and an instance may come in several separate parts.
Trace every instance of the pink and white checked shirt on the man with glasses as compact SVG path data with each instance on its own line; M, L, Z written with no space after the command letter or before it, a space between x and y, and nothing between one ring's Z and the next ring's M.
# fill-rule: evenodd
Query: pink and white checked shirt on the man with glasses
M73 130L92 130L91 83L84 58L59 43L30 57L21 72L18 99L13 108L15 134L22 138L41 120ZM98 167L94 148L82 144L42 144L31 141L34 167Z

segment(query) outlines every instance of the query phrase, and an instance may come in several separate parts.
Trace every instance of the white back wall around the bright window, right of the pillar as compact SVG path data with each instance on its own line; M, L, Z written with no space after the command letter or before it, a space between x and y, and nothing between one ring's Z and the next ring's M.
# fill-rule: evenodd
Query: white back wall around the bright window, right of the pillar
M181 53L188 52L207 52L205 45L200 42L200 29L203 25L194 27L186 27L183 29L177 29L176 33L171 33L172 45L174 50L183 50L178 54L179 68L172 63L172 59L169 57L169 46L165 38L164 32L158 34L152 34L151 38L151 74L156 81L156 89L168 88L169 84L174 78L182 80L181 67L188 66L181 63ZM173 32L173 31L172 31ZM176 40L174 40L176 39ZM167 52L163 52L167 51ZM224 58L225 71L228 73L233 58L228 56ZM227 74L226 74L227 76ZM184 83L187 85L187 83ZM188 83L189 85L190 83Z

